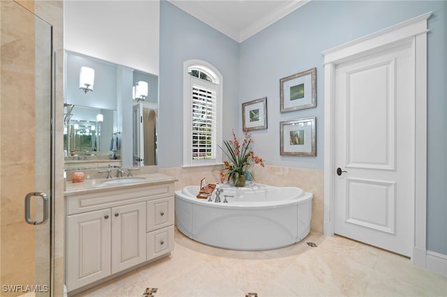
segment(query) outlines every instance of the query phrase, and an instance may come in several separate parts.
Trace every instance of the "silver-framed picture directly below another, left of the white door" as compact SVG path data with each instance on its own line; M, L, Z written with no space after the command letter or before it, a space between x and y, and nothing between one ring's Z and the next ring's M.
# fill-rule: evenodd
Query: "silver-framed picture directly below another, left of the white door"
M316 156L315 118L281 122L281 155Z

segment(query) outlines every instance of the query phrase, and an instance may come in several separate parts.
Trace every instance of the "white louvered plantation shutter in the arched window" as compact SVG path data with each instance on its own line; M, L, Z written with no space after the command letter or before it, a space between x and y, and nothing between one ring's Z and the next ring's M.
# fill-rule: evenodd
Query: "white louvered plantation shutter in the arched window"
M217 98L212 83L192 84L192 159L216 158Z

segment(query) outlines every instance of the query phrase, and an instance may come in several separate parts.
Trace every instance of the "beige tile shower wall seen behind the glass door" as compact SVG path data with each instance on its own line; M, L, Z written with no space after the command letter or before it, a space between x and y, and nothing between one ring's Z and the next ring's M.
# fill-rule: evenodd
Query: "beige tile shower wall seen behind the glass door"
M36 243L35 229L27 228L23 215L17 209L23 209L23 192L34 190L34 137L23 131L34 134L34 88L23 88L23 85L34 86L35 38L34 19L29 13L17 8L15 3L1 3L1 284L35 284L34 271L27 269L28 263L36 261L34 250ZM14 15L20 15L23 20L17 20ZM23 17L22 17L23 16ZM6 26L23 28L20 34L8 34ZM23 42L27 40L27 42ZM31 69L31 70L30 70ZM15 94L21 96L15 96ZM8 100L14 98L15 100ZM10 125L17 123L20 125ZM8 144L6 139L14 139L14 144ZM20 144L20 149L17 149ZM17 181L14 176L21 175L29 180L27 185ZM7 186L6 186L7 185ZM19 199L20 198L20 199ZM32 214L34 217L34 214ZM21 230L20 232L18 232ZM24 245L26 241L26 245ZM24 250L23 253L17 253ZM30 250L31 252L26 252ZM27 271L27 273L20 273ZM14 279L10 275L17 276Z

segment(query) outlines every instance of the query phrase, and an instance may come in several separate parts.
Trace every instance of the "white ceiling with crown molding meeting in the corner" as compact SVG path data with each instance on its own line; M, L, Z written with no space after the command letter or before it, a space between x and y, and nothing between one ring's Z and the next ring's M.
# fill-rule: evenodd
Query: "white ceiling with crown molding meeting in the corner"
M238 43L310 0L168 0Z

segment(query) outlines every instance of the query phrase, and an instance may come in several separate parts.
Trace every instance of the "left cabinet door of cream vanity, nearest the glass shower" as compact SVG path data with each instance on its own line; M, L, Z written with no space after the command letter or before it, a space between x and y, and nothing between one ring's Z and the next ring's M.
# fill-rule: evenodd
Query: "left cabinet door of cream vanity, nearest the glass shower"
M66 279L73 291L110 275L110 208L68 215Z

